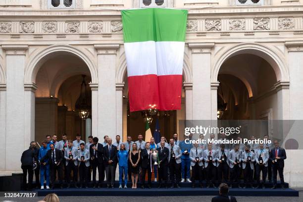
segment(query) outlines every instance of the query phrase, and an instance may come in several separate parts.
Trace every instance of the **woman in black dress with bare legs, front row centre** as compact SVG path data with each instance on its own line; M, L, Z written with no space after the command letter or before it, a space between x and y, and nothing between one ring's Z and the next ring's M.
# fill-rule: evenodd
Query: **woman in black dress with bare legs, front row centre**
M131 163L130 170L132 175L132 189L137 189L141 151L142 150L138 150L137 144L134 143L133 151L129 153L129 161Z

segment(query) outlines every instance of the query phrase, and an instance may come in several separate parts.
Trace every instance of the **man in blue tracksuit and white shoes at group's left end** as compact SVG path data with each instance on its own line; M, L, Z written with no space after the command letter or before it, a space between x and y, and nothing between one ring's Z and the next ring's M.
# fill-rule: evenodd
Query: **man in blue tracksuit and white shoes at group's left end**
M48 159L45 159L43 162L41 162L41 159L47 154L48 152L48 141L42 142L42 147L39 150L39 161L41 163L40 166L40 183L41 183L41 189L44 189L44 174L46 174L46 181L47 181L47 189L50 189L50 165Z

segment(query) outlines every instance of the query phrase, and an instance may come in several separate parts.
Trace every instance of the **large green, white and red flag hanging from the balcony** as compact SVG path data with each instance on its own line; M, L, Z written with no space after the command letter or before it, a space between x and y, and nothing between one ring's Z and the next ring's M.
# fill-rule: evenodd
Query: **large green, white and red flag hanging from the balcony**
M122 10L130 111L181 109L187 10Z

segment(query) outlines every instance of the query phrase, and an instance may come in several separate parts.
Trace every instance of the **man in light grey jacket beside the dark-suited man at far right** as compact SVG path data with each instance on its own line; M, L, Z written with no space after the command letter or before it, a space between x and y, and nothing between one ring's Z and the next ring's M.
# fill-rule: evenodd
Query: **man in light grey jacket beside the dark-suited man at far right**
M263 144L259 144L259 149L255 151L255 161L256 161L256 179L258 188L262 187L265 189L264 182L267 175L267 165L268 165L269 154L268 150L264 149ZM262 183L260 183L260 173L262 171Z

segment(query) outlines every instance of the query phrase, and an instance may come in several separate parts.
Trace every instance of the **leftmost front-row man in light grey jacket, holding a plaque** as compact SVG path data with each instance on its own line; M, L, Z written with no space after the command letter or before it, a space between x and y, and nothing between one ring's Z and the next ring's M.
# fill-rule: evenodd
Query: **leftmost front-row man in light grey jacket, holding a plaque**
M65 164L67 169L67 188L70 188L70 175L73 171L73 182L75 188L77 186L77 178L78 178L78 149L73 147L73 143L71 140L67 143L68 147L64 151Z

